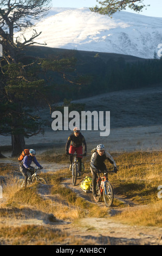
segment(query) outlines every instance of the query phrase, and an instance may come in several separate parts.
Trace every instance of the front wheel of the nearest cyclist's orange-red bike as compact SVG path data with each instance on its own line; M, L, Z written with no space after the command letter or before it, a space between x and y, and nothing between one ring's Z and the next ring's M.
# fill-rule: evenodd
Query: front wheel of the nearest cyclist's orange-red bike
M112 206L114 200L114 192L111 183L108 181L105 182L105 186L103 188L103 199L106 206Z

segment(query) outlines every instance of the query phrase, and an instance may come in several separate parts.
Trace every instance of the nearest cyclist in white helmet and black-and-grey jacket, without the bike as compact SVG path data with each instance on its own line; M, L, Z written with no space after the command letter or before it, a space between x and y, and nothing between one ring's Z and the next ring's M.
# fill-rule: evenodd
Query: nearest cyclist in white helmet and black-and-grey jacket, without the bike
M118 169L116 167L116 163L113 159L113 157L105 151L105 147L103 144L99 144L96 147L96 151L92 154L91 160L90 160L90 171L92 173L92 187L93 187L93 196L97 197L96 195L96 179L97 174L99 170L102 173L108 173L106 165L104 163L105 160L108 160L110 163L114 164L114 173L118 172Z

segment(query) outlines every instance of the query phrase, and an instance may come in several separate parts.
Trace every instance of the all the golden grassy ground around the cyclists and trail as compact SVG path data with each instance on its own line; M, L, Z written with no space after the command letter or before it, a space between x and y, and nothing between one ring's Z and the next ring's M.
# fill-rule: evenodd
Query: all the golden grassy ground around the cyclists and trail
M115 216L110 215L111 209L121 209L124 203L119 198L114 200L111 209L93 204L79 197L69 188L63 187L61 181L71 178L68 169L55 173L43 173L41 176L47 180L49 197L42 198L40 188L32 185L26 189L17 187L17 170L11 164L0 165L0 176L4 176L3 197L7 198L0 206L0 243L6 244L58 244L67 240L66 232L55 230L43 225L25 224L20 227L4 225L5 220L35 220L72 221L86 217L109 217L123 223L132 225L145 225L162 227L161 209L162 200L158 198L158 186L161 185L161 152L153 153L123 153L112 154L118 167L117 174L110 174L109 180L114 187L115 195L130 200L141 208L129 208L119 211ZM39 161L68 162L64 155L39 156ZM85 173L91 176L89 169L90 156L85 157ZM107 163L109 168L109 164ZM110 167L111 168L111 167ZM2 182L3 183L3 182ZM1 200L1 199L0 199ZM147 205L147 210L145 206ZM133 209L133 210L132 210ZM32 239L31 239L32 237ZM79 244L75 237L70 236L72 244ZM32 241L32 242L31 242Z

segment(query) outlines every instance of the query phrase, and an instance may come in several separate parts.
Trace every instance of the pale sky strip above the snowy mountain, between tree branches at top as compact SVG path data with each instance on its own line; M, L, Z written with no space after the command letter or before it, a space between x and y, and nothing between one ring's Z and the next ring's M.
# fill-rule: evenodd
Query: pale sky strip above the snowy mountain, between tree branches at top
M70 7L70 8L82 8L82 7L95 7L99 5L96 0L52 0L53 7ZM150 4L147 10L143 10L139 14L152 16L152 17L162 17L162 0L144 0L145 5ZM131 13L136 13L127 8L126 11Z

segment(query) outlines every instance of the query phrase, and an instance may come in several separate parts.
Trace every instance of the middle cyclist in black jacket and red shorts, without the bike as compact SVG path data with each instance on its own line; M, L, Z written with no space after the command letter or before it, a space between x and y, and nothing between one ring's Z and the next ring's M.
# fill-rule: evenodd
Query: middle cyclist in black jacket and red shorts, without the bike
M71 135L68 137L66 142L66 154L69 156L70 170L72 170L72 164L73 164L73 156L70 154L74 154L75 151L77 153L78 169L79 169L79 176L80 176L81 170L82 170L82 156L80 155L83 155L83 156L87 155L87 144L85 141L85 137L81 134L80 129L78 127L74 128L73 133L71 133Z

